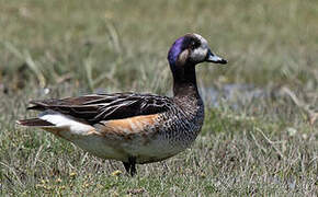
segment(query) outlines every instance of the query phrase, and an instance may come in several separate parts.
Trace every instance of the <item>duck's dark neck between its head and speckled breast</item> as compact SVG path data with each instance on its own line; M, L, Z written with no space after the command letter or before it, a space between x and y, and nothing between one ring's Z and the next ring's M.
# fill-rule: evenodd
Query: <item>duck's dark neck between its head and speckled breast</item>
M182 67L177 67L173 73L173 96L175 99L190 97L200 99L196 77L195 77L195 66L185 65Z

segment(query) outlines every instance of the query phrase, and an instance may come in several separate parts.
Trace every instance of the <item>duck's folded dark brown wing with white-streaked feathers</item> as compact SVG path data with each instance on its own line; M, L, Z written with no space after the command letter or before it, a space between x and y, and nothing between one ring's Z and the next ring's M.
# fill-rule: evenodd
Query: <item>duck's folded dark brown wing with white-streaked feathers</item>
M31 101L29 109L55 111L84 119L89 124L101 120L123 119L139 115L151 115L173 108L173 102L154 94L115 93L91 94L61 100Z

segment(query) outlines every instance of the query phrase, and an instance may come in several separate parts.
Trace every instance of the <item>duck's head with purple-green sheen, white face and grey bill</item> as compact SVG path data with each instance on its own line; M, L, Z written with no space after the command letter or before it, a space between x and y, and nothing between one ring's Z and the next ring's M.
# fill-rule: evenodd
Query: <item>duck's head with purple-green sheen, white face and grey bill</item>
M211 51L207 42L198 34L185 34L178 38L168 53L168 61L172 71L185 69L207 61L214 63L227 63L227 60Z

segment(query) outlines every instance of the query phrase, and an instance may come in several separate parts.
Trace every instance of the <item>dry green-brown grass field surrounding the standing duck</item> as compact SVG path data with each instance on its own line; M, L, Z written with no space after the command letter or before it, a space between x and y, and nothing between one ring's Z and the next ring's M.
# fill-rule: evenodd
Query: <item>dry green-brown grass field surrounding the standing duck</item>
M0 194L317 196L317 18L315 0L0 0ZM35 115L31 99L171 95L167 51L186 32L229 65L197 68L205 125L179 155L132 178L120 162L14 125ZM206 90L232 83L266 96L213 105Z

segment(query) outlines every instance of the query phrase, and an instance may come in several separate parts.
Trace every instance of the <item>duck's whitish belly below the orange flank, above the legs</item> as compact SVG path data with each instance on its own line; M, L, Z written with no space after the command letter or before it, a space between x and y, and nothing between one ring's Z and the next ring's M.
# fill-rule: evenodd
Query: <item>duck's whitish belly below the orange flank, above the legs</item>
M149 163L161 161L173 157L184 148L172 147L158 137L148 143L144 139L133 140L109 140L100 136L86 136L84 138L72 139L76 146L102 159L114 159L128 161L128 158L136 158L137 163Z

